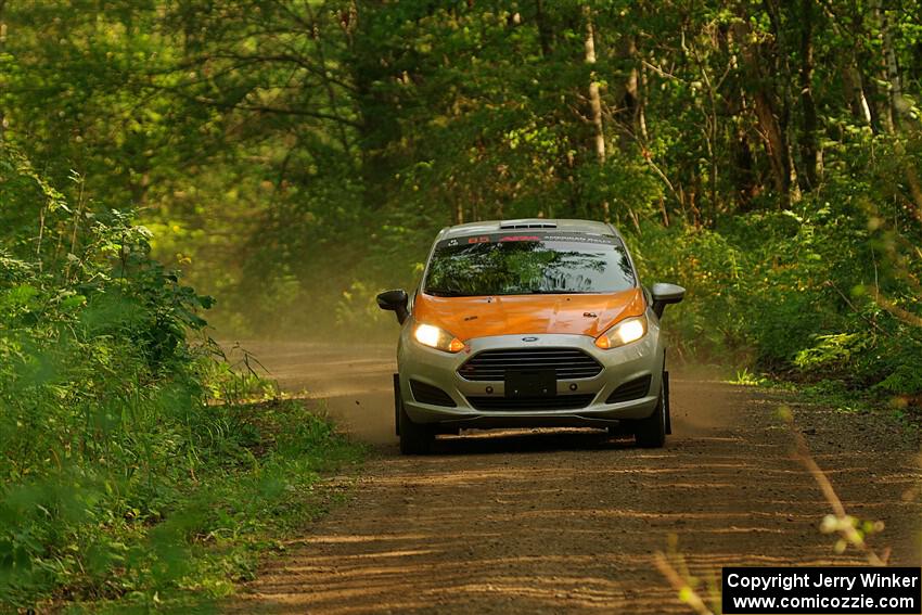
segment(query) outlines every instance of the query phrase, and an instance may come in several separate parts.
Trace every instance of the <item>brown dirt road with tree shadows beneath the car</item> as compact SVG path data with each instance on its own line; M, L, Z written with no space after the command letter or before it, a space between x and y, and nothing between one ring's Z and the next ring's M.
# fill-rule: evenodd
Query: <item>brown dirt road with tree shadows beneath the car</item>
M240 613L687 613L653 564L670 536L694 574L728 564L860 562L817 527L829 512L790 456L777 397L673 376L663 450L579 431L477 434L405 458L390 347L248 344L281 385L329 399L377 453L353 500L267 562ZM791 399L784 399L791 402ZM919 565L918 443L886 420L793 405L849 513Z

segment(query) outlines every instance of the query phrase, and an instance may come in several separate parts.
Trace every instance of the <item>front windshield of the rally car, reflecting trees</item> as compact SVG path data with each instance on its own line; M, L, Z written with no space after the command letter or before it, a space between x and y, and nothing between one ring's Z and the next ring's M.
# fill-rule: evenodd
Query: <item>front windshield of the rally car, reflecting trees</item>
M446 297L616 293L636 285L620 239L581 233L444 240L423 292Z

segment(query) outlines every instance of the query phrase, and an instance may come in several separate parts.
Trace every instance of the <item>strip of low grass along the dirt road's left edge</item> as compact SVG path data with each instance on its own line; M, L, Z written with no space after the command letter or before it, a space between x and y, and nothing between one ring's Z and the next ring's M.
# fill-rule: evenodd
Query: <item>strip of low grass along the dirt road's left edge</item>
M156 518L132 520L129 510L93 530L91 542L110 553L97 561L92 546L81 548L81 572L56 579L54 597L38 612L217 612L238 584L254 578L262 555L283 551L284 538L346 497L366 448L335 431L322 403L222 410L233 417L240 448L210 450L182 484L156 486L158 501L148 502ZM332 473L347 478L324 485ZM118 562L113 546L124 554Z

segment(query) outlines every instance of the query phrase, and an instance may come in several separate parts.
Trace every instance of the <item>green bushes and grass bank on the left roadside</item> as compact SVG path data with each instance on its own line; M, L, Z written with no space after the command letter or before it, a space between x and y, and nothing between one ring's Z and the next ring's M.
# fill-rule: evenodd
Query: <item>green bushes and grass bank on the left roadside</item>
M354 449L300 405L244 403L265 383L192 343L212 299L131 215L81 213L0 154L2 213L34 215L0 252L0 604L230 591Z

